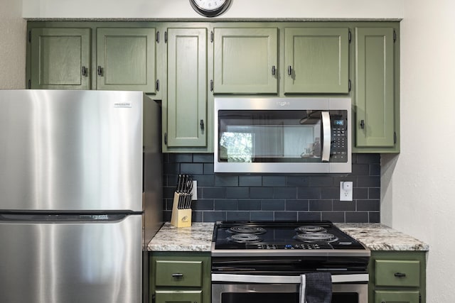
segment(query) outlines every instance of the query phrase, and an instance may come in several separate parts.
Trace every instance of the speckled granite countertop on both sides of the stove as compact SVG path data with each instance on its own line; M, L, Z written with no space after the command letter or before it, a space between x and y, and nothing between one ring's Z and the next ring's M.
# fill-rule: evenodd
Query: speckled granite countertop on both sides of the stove
M429 245L417 238L379 223L335 223L370 250L428 251ZM210 252L215 222L193 222L177 228L165 222L151 239L149 251Z

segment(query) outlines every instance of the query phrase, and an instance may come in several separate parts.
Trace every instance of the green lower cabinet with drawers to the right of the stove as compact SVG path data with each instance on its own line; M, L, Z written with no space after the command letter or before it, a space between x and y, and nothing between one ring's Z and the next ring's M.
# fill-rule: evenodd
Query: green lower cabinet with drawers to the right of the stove
M425 303L425 251L372 251L368 302Z

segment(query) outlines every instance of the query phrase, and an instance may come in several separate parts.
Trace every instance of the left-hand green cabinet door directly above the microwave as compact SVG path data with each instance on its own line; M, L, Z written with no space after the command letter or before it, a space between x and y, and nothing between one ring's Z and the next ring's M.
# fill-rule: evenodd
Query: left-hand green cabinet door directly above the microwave
M214 28L213 93L277 94L278 29Z

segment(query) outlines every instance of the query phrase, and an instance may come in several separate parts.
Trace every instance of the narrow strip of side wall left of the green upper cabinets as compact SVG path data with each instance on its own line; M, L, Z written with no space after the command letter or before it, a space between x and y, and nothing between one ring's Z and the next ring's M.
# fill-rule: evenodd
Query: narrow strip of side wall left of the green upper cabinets
M21 1L1 0L0 89L25 87L26 21L21 16Z

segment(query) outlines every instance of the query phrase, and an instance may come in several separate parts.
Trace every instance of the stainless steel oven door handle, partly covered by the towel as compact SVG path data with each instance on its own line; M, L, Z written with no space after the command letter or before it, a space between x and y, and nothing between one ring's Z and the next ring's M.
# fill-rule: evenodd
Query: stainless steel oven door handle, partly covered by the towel
M212 282L300 284L298 275L212 274ZM368 282L368 274L332 275L332 283Z

